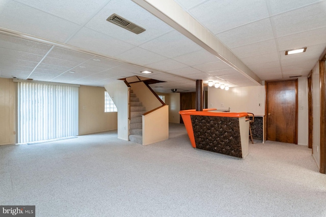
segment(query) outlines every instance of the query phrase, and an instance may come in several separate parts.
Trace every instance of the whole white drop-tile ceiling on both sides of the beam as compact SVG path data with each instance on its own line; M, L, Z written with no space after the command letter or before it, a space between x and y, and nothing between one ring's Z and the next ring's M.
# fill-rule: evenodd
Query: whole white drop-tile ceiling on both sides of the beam
M326 1L175 2L261 80L307 76L326 47ZM113 13L146 31L135 35L107 22ZM194 91L196 79L257 85L130 0L3 0L0 32L0 76L5 78L103 86L144 76L140 71L147 69L153 73L146 77L166 81L151 85L161 92ZM306 53L284 55L305 46Z

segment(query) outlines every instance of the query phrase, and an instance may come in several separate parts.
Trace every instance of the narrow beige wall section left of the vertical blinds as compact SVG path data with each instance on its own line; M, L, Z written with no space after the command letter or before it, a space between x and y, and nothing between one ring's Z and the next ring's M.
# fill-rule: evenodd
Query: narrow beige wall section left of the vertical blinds
M0 78L0 145L15 143L16 85L9 78Z

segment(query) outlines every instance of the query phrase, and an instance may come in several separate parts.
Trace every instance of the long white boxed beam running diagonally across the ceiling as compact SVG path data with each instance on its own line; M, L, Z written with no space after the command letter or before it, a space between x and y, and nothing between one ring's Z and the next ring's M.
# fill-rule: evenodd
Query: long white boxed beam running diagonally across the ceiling
M154 16L166 22L178 32L191 39L199 46L220 58L230 67L247 77L257 85L260 78L251 71L232 51L217 39L208 29L184 11L173 0L132 0Z

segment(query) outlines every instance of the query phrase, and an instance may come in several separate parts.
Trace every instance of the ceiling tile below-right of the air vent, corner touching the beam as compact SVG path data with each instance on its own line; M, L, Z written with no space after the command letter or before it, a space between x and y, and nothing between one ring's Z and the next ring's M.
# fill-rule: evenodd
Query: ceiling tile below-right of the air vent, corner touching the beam
M168 58L173 58L202 49L195 42L183 36L176 30L142 44L140 47Z

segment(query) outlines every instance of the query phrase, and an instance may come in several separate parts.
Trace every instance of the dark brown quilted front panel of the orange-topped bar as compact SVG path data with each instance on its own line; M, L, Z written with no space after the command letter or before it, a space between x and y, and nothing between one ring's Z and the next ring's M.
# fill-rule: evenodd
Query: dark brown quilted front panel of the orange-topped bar
M242 158L239 119L191 115L196 148Z

